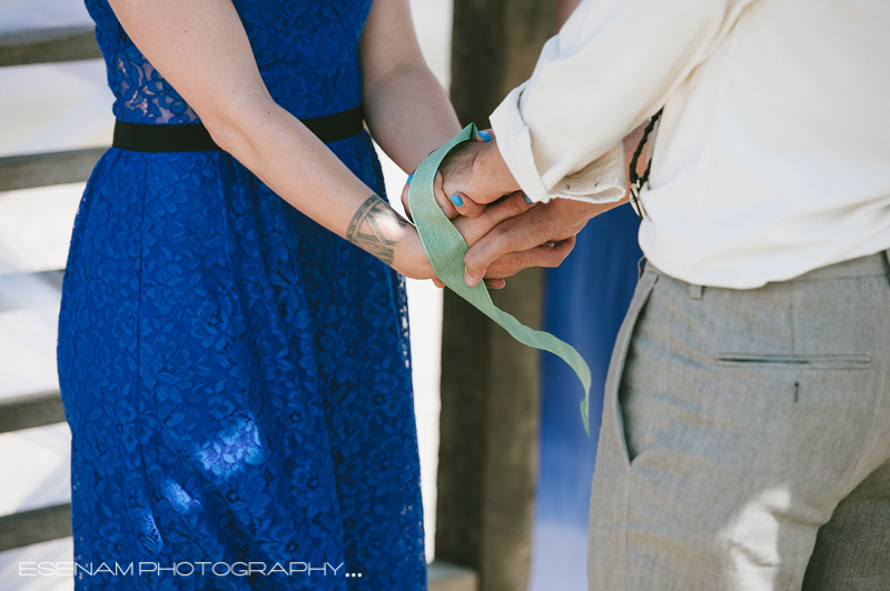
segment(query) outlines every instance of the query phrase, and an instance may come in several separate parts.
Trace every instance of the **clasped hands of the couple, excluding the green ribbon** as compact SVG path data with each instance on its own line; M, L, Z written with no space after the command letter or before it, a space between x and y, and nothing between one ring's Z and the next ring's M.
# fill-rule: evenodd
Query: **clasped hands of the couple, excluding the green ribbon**
M504 278L528 267L558 267L586 222L611 209L603 204L554 199L532 203L497 150L492 132L481 131L445 158L434 182L436 202L469 247L465 281L504 287ZM408 207L408 183L402 203ZM443 287L438 279L433 280Z

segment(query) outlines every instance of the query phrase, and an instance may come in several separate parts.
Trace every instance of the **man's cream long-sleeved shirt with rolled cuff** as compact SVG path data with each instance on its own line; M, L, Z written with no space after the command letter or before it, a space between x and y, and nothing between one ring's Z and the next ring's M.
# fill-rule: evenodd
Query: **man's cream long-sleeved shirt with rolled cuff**
M662 106L663 272L749 289L890 248L890 1L584 0L491 121L531 199L614 201Z

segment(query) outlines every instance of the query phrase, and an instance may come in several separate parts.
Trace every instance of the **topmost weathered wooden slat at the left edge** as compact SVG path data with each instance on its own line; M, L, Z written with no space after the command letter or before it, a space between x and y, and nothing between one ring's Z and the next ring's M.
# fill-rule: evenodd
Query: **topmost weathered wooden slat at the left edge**
M33 29L0 36L0 67L101 57L92 26Z

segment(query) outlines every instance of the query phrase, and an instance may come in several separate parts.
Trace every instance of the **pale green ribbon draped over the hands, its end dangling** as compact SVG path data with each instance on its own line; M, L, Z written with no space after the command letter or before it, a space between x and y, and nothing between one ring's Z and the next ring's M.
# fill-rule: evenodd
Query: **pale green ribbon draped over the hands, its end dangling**
M438 203L436 203L436 198L433 194L433 181L445 156L457 144L473 141L475 134L476 126L468 124L449 142L429 154L414 172L414 178L408 187L408 204L411 214L417 226L417 232L421 234L424 250L433 264L436 276L455 293L497 322L521 343L550 351L568 363L584 387L581 419L584 421L584 430L590 434L591 370L584 358L565 341L561 341L550 332L531 329L516 320L515 317L497 308L482 281L472 288L464 281L464 256L468 249L464 237L461 236L461 232L457 231Z

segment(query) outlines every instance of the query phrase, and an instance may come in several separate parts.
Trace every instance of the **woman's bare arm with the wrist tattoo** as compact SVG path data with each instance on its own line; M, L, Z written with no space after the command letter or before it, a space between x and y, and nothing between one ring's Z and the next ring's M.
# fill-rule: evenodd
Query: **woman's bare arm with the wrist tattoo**
M271 99L230 0L110 3L220 148L328 230L408 277L433 277L414 227Z

